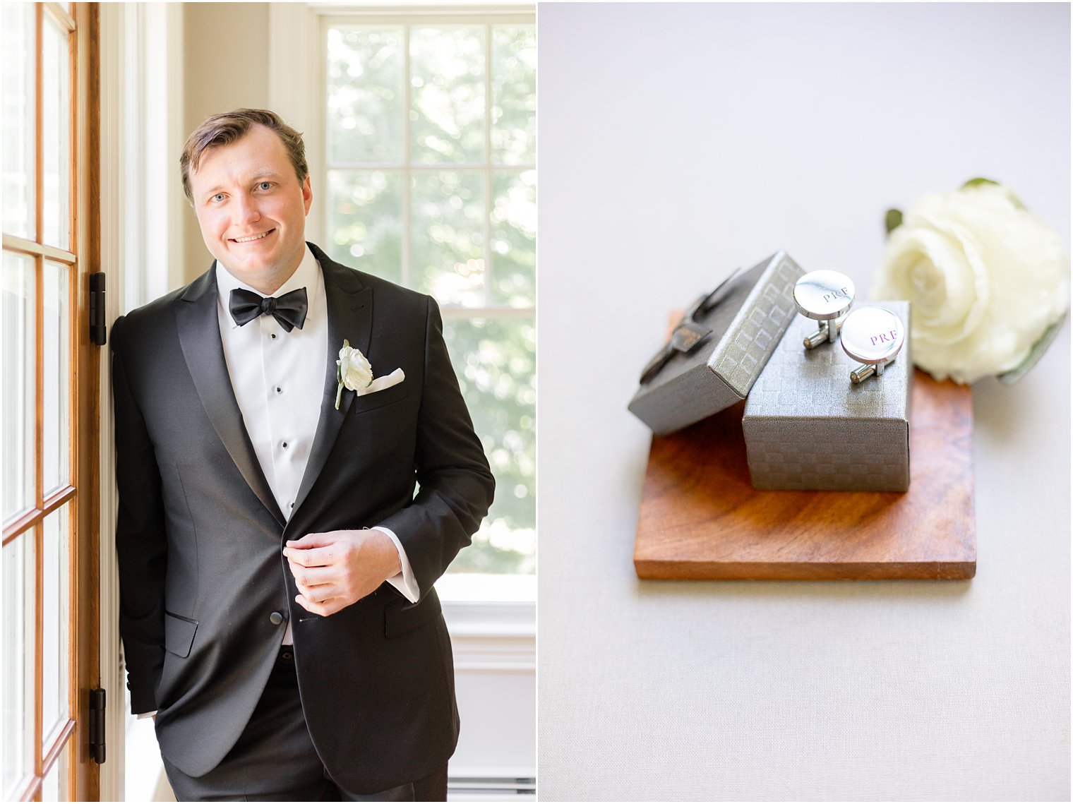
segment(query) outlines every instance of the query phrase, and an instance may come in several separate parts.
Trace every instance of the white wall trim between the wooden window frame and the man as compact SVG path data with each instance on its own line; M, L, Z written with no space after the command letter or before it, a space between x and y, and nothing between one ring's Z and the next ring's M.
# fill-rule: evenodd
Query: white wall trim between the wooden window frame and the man
M183 137L182 15L168 3L101 6L101 264L108 276L108 320L181 283L181 191L168 154ZM111 361L101 361L101 477L115 477ZM124 692L118 634L115 488L101 489L101 678L108 693L108 761L101 800L124 796ZM144 764L144 763L142 763ZM144 787L151 791L153 772ZM135 788L137 785L135 784ZM126 790L128 798L147 794Z

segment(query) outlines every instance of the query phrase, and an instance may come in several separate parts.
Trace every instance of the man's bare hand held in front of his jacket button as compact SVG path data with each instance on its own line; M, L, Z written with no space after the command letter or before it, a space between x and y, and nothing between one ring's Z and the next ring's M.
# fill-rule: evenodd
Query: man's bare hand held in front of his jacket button
M328 616L401 572L395 543L381 530L333 530L288 541L283 555L300 593L294 599Z

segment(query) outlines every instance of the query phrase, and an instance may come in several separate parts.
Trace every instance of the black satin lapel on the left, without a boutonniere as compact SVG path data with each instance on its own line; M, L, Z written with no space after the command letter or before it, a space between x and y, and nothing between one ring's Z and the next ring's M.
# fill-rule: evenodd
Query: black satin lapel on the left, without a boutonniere
M216 434L226 448L247 484L271 513L280 526L285 524L276 497L261 470L250 436L242 422L242 412L235 400L231 376L220 340L220 322L216 311L216 272L209 271L190 286L175 311L179 343L187 368L202 406Z

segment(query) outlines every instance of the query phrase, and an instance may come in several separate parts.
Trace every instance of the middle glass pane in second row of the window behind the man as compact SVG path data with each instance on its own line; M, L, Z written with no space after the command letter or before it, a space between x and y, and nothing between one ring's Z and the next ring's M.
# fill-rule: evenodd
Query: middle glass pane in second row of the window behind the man
M441 305L484 305L484 190L476 172L415 173L412 284Z

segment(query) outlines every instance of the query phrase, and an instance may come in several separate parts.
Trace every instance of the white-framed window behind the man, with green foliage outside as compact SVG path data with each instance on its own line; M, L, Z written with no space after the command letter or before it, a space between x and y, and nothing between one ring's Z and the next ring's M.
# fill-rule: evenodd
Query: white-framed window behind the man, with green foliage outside
M497 482L488 518L452 572L531 574L533 17L325 17L322 36L326 250L439 302Z

